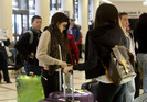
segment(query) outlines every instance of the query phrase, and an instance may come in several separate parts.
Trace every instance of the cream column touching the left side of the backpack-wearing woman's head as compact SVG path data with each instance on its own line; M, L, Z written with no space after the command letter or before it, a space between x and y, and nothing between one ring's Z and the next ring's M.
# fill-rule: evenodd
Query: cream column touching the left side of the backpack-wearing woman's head
M92 18L95 20L96 10L99 7L99 0L92 0Z

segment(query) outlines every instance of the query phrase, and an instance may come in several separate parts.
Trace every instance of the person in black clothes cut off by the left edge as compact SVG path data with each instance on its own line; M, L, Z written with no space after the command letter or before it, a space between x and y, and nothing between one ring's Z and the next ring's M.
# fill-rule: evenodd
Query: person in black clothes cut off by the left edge
M8 72L8 66L7 66L7 50L4 46L10 45L10 39L7 38L7 41L0 41L0 70L3 72L3 78L7 83L11 83L10 78L9 78L9 72ZM0 82L1 82L1 72L0 72Z

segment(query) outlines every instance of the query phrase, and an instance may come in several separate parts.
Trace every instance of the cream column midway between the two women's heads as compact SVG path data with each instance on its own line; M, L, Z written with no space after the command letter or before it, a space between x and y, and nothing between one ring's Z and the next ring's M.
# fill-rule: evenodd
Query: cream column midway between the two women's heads
M78 23L83 35L82 43L85 44L85 35L88 31L88 0L80 0L78 2Z

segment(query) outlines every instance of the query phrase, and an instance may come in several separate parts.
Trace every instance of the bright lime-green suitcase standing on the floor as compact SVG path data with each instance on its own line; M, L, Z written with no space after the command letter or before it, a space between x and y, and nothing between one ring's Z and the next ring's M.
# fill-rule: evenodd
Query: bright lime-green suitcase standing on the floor
M41 76L18 76L17 77L18 102L38 102L44 99L41 84Z

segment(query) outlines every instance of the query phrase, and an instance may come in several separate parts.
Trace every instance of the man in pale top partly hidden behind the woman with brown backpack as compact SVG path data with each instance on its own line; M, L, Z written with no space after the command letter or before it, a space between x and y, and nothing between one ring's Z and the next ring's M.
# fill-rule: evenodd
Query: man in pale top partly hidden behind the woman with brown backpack
M128 14L126 12L122 12L122 13L119 13L119 18L120 18L123 31L128 41L128 50L134 55L134 59L136 59L134 36L132 33L129 33L127 31L127 27L129 26ZM127 88L127 90L125 92L125 102L134 102L135 79L127 82L126 88Z

